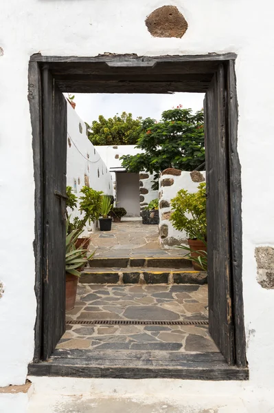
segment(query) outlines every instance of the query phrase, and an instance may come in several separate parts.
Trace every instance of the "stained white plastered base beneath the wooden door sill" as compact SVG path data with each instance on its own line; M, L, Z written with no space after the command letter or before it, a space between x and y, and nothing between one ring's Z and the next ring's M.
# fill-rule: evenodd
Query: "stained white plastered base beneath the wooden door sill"
M274 408L271 390L247 382L30 379L34 394L27 413L272 413Z

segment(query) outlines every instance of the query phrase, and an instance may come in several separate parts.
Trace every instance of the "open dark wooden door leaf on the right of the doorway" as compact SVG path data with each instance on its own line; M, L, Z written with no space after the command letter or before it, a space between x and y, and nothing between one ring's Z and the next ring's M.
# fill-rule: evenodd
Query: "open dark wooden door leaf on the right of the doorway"
M233 365L231 229L226 72L220 63L205 95L209 332Z

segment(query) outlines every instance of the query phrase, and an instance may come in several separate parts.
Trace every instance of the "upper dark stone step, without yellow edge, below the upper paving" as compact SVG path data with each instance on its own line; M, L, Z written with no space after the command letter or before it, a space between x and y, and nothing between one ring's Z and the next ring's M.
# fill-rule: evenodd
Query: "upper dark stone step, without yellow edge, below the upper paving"
M192 267L191 260L185 257L93 257L89 260L90 267L104 268L189 268Z

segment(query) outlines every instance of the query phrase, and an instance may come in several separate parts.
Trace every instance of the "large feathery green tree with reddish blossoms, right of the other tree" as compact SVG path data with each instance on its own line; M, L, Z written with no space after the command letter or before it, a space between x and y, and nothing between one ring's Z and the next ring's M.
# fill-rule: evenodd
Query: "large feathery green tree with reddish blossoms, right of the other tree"
M159 172L164 169L193 171L205 162L203 119L203 110L192 114L192 109L181 105L163 112L158 123L144 119L136 146L144 153L122 156L122 166L129 172L155 172L152 189L157 189Z

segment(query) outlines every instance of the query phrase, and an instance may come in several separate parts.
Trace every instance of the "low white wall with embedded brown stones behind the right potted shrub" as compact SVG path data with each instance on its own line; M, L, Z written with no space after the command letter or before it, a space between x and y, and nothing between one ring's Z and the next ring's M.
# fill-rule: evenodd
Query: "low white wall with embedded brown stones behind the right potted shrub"
M161 173L159 178L159 234L160 242L165 248L185 244L185 231L177 231L170 222L170 201L179 189L196 192L198 184L205 181L205 171L180 171L169 168Z

